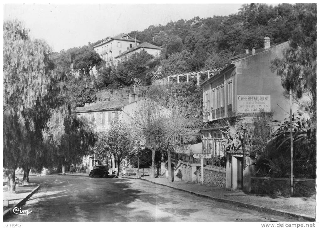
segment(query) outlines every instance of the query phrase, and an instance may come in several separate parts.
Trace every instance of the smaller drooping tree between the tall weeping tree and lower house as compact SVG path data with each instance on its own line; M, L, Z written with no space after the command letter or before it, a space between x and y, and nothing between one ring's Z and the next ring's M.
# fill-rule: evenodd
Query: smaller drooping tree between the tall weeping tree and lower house
M65 165L79 162L88 155L97 138L92 122L66 108L53 110L43 131L49 167L62 165L62 173Z

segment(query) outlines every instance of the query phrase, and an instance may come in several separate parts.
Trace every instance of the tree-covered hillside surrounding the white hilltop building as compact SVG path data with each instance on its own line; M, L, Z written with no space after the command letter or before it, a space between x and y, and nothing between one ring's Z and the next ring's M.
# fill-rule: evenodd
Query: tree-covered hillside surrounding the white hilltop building
M310 4L244 4L236 14L229 16L181 19L129 33L140 42L163 48L156 58L141 52L117 66L106 66L92 52L92 47L99 40L89 42L88 46L55 53L55 63L68 72L73 70L79 73L77 78L70 76L69 87L77 99L77 106L83 106L94 101L99 90L123 88L133 82L146 85L153 79L171 74L223 66L230 57L243 53L246 47L262 48L266 34L270 36L271 45L285 42L294 35L295 26L302 20L298 17L299 13L311 12L311 8ZM84 62L96 67L94 77L87 73L92 66ZM73 68L69 67L71 64Z

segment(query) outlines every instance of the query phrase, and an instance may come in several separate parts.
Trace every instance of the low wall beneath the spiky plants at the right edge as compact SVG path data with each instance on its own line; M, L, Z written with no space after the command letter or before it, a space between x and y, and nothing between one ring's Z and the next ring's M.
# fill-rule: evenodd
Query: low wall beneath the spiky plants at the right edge
M316 194L315 179L293 179L295 196L311 196ZM291 195L289 178L251 177L251 192L268 195Z

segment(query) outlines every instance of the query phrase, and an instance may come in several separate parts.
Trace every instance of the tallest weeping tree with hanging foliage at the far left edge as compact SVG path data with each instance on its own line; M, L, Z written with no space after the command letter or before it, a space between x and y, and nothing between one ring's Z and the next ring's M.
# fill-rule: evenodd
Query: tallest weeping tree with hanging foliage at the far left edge
M15 169L32 151L36 123L32 110L50 84L49 46L31 40L21 22L3 25L3 165L8 192L15 192Z

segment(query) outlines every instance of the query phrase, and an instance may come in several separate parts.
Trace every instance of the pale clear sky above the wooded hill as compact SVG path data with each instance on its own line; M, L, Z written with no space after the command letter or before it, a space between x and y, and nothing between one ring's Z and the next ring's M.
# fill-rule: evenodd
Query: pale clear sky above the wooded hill
M31 37L44 39L53 51L87 45L107 36L142 31L150 25L166 25L238 12L243 3L225 4L3 4L3 19L18 19L30 29Z

